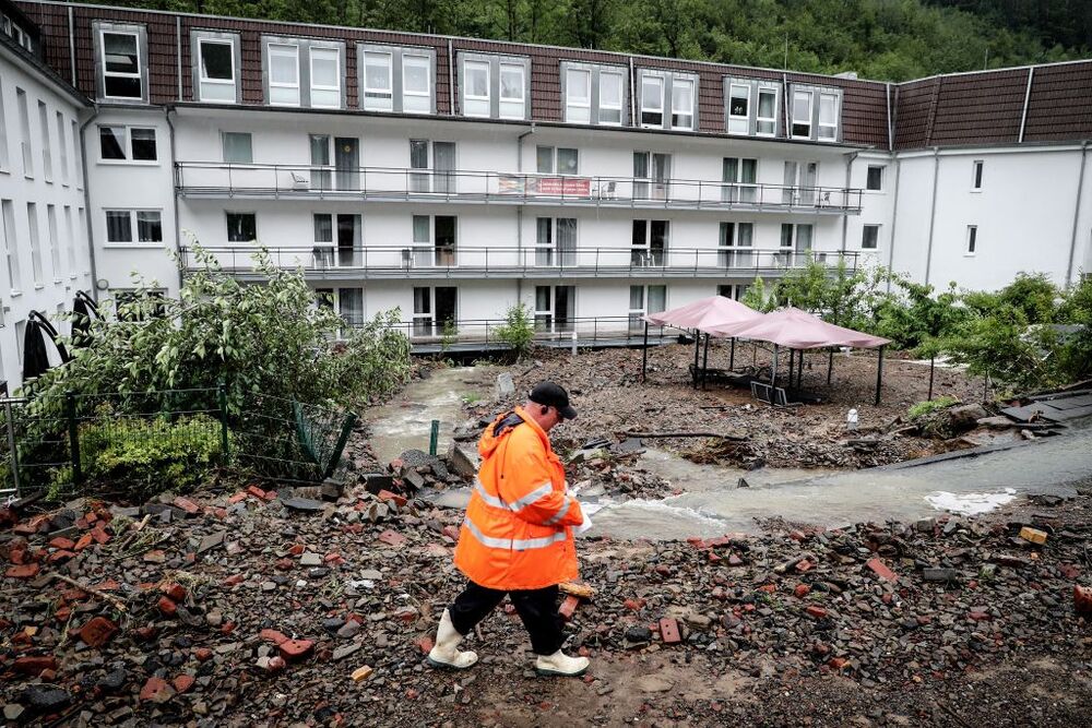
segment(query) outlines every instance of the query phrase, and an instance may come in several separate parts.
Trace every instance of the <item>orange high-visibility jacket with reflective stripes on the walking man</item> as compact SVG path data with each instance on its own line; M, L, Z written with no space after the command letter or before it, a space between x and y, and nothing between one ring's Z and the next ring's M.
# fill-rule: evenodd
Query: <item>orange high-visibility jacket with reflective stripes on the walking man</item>
M467 578L506 592L575 578L572 526L584 522L546 433L520 407L515 415L522 421L501 415L478 441L482 467L455 547Z

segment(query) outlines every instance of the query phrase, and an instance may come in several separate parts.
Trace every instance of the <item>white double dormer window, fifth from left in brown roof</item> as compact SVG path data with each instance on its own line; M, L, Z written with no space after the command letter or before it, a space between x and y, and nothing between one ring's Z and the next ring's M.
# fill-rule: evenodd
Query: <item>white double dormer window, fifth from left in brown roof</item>
M460 108L465 117L531 118L531 61L515 56L459 55Z

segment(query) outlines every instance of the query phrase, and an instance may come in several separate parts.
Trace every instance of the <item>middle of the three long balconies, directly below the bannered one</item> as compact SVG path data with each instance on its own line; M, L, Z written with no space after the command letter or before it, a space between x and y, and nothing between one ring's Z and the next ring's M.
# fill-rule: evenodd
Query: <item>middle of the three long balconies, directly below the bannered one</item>
M209 247L225 271L260 278L251 246ZM788 268L818 261L857 266L856 252L794 251L786 248L523 248L434 246L317 244L309 248L270 248L274 266L305 271L311 279L479 279L479 278L717 278L776 276ZM180 250L183 268L200 270L193 249Z

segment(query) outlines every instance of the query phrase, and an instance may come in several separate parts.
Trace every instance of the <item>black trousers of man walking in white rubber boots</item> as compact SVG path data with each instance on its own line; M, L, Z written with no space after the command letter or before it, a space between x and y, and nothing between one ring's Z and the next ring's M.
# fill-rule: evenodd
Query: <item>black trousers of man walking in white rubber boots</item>
M531 634L531 648L536 655L553 655L561 648L561 617L557 613L557 585L542 589L501 592L466 582L466 588L455 597L448 610L459 634L470 634L474 625L489 616L505 595L512 600L523 626Z

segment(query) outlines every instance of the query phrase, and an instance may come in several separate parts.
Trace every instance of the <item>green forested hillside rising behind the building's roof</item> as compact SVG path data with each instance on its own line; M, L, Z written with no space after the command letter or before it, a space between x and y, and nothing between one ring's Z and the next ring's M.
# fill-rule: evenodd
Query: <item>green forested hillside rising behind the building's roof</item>
M102 0L100 0L102 1ZM134 0L110 4L904 81L1084 58L1092 0Z

